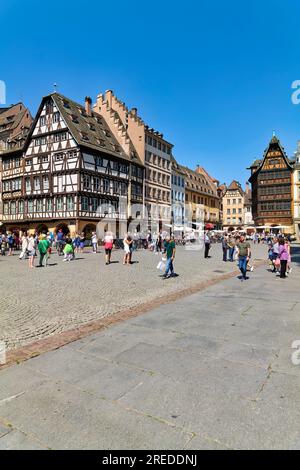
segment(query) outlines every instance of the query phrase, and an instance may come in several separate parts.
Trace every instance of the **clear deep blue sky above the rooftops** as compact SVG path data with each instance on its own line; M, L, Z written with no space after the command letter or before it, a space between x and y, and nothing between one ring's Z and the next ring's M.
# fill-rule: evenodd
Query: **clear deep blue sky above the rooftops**
M297 0L1 0L0 80L34 114L58 91L113 89L175 145L179 162L244 184L273 129L300 139Z

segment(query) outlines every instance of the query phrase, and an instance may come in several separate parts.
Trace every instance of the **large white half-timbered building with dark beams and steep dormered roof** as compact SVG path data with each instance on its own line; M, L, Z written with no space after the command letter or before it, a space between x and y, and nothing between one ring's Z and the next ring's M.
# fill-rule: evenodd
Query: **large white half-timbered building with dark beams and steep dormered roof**
M84 231L101 222L121 235L143 200L144 167L103 118L53 93L42 99L22 156L2 154L3 223L10 230Z

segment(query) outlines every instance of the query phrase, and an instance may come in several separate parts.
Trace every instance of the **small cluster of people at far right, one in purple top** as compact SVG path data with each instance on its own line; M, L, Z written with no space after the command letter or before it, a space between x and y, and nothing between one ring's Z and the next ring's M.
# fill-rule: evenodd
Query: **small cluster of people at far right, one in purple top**
M268 257L271 271L276 276L285 279L291 274L291 243L288 238L280 235L269 240Z

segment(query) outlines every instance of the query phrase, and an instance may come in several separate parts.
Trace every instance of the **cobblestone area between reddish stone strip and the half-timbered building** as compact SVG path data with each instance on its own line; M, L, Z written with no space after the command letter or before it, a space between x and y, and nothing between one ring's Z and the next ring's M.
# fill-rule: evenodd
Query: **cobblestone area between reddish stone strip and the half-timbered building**
M148 251L135 252L132 266L123 266L122 250L113 252L110 266L103 249L97 255L87 250L70 263L53 254L49 267L33 270L17 254L0 257L0 339L8 349L24 346L235 270L235 263L221 260L221 251L214 245L205 260L203 251L178 248L179 276L166 281L156 269L160 255ZM253 258L266 251L255 247Z

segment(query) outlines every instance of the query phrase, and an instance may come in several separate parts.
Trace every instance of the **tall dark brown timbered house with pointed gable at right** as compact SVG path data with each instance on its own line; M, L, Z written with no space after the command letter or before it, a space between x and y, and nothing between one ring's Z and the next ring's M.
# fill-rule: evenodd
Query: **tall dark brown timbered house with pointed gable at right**
M255 225L262 228L279 227L286 233L293 233L293 162L275 135L262 160L256 160L250 169Z

